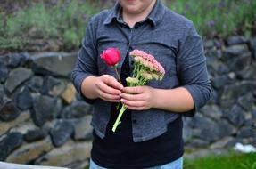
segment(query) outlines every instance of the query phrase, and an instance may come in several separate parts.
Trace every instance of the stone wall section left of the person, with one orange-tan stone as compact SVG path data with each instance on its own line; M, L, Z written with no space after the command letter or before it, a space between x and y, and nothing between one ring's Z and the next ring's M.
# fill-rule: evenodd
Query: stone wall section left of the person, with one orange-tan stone
M0 57L0 160L83 168L91 106L70 82L75 53Z

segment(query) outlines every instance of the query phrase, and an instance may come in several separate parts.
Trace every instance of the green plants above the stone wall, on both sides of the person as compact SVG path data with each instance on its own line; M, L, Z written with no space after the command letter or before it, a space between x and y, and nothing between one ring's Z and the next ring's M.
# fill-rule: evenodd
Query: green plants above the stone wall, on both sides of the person
M255 0L162 1L193 20L203 37L252 36L253 32L255 36ZM114 0L33 2L13 12L0 8L0 51L42 50L49 44L54 44L57 50L77 50L89 18L110 7Z

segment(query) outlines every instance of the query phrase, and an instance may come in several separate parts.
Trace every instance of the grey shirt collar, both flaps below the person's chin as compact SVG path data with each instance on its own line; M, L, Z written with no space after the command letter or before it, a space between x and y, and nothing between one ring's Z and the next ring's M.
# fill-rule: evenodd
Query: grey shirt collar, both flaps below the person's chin
M164 16L165 12L167 11L167 8L164 6L164 4L161 3L161 0L157 0L156 4L154 4L152 12L147 16L145 20L151 20L153 23L153 26L157 26L158 23L161 22L162 17ZM110 24L112 20L118 20L121 21L121 6L117 2L112 8L110 14L107 16L107 18L104 20L103 24Z

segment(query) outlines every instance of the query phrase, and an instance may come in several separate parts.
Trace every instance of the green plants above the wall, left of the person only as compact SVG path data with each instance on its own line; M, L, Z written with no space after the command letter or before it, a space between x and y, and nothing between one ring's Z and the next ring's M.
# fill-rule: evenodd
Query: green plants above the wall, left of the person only
M56 1L47 5L42 1L5 15L0 13L0 48L27 49L40 42L54 44L66 50L78 47L85 35L87 21L99 12L97 3L87 1Z

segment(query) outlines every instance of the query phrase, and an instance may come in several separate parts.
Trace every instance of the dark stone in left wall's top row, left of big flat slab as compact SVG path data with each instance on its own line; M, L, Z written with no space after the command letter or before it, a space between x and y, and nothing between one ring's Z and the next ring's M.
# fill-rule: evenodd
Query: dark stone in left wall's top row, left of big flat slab
M17 68L23 66L29 60L28 53L13 53L7 55L7 66L10 68Z

